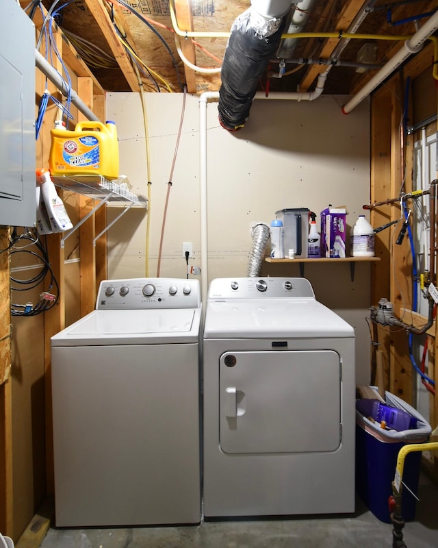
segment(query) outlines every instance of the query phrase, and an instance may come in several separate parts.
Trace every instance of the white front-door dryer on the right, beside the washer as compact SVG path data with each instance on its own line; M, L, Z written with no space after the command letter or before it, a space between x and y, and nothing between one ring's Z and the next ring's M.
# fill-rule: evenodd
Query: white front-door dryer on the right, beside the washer
M355 511L355 333L304 278L209 286L205 518Z

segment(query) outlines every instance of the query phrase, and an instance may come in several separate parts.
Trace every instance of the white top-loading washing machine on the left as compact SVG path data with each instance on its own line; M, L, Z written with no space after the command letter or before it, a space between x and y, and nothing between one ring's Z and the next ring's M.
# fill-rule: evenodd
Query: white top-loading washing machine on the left
M201 520L196 279L102 282L51 338L55 523Z

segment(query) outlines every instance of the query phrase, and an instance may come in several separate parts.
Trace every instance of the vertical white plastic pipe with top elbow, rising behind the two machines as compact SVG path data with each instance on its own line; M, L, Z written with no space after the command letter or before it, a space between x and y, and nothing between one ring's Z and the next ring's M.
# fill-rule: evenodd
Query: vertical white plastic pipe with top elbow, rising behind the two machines
M201 216L201 301L207 303L208 233L207 233L207 101L219 99L218 91L205 91L199 97L199 201ZM205 311L205 304L203 307Z

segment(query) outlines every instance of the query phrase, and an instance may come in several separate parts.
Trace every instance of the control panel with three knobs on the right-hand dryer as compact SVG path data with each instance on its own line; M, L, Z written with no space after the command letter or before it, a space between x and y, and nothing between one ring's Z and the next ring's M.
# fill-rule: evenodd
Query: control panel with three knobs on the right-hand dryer
M305 278L247 277L214 279L208 292L208 299L276 299L315 298L309 280Z

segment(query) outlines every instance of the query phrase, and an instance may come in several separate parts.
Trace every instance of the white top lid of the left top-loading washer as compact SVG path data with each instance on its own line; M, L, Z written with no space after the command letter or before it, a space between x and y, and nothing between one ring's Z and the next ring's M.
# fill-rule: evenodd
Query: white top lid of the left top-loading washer
M94 310L51 338L52 346L197 342L201 308Z

